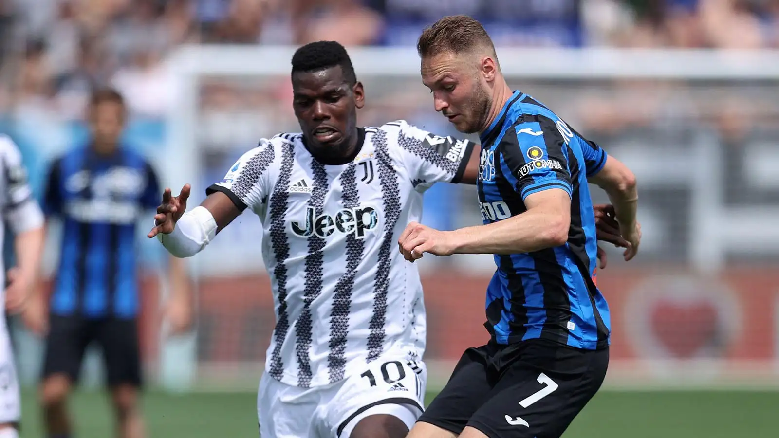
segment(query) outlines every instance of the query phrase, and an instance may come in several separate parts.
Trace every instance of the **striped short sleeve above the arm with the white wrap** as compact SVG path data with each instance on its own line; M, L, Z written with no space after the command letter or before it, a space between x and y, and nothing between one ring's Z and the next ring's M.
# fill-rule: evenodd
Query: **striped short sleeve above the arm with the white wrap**
M275 157L273 143L270 140L260 141L257 147L235 161L222 181L210 185L206 195L224 193L241 211L264 203L268 195L266 174Z

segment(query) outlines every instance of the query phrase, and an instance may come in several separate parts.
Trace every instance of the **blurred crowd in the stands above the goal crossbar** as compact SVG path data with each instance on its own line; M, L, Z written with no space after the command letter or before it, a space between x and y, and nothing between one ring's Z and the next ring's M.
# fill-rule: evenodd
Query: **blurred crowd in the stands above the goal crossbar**
M481 19L504 46L779 45L771 0L0 0L0 110L79 118L85 90L112 83L136 114L160 117L159 62L178 44L413 45L451 13Z

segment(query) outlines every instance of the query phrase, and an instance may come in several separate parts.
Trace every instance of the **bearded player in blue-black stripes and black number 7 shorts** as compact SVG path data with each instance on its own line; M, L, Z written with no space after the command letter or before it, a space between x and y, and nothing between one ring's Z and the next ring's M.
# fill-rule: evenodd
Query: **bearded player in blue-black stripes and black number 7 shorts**
M446 16L419 37L422 82L435 111L478 132L484 225L437 231L418 223L401 253L495 254L487 344L468 348L410 436L557 438L606 376L611 318L595 285L597 231L588 179L614 204L638 251L633 172L533 97L513 91L481 23Z

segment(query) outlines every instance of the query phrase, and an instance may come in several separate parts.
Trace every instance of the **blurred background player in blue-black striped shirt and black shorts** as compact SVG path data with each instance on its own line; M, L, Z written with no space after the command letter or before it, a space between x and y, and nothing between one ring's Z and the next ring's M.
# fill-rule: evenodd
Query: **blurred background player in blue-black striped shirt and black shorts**
M89 142L58 157L48 172L44 211L63 222L62 250L48 306L38 296L26 320L33 330L48 331L41 404L51 438L71 436L66 400L93 342L104 358L117 436L143 436L136 224L157 206L160 189L151 164L122 144L125 115L121 94L95 91ZM181 260L171 257L168 275L168 316L173 332L181 333L189 328L192 303Z

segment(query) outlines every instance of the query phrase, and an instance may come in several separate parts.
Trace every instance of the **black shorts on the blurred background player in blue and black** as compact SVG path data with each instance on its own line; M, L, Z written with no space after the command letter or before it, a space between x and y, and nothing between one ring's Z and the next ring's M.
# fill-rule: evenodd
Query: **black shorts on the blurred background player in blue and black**
M97 341L102 350L108 386L141 386L138 322L113 317L49 316L44 379L53 374L65 374L76 383L86 347L93 341Z

